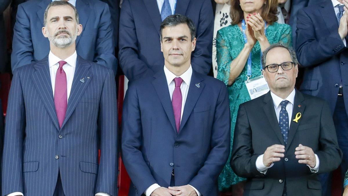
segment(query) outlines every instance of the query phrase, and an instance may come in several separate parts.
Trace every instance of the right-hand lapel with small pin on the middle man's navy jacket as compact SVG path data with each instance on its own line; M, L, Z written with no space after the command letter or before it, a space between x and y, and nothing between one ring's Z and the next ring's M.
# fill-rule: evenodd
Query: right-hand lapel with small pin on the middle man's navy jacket
M181 133L182 128L185 126L185 123L187 122L193 107L195 107L196 102L201 94L201 92L204 89L205 84L202 82L203 78L201 78L196 71L192 70L192 76L191 76L191 82L189 87L189 92L187 94L184 112L182 114L181 123L180 123L180 129L179 133ZM199 83L199 88L196 86L196 84Z

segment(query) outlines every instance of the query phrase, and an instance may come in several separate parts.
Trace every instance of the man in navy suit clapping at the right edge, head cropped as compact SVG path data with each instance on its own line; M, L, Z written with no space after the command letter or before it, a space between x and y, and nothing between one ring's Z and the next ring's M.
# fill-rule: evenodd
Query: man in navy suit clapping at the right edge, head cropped
M347 1L326 0L303 8L296 31L296 54L304 67L300 90L329 102L343 152L342 179L348 169L347 7ZM331 174L321 177L323 195L330 195Z

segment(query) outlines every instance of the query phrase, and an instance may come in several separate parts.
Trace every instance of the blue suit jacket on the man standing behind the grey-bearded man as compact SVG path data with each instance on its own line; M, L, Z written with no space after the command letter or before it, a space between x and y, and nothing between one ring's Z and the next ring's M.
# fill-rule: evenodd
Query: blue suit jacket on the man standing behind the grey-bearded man
M30 0L18 6L11 54L12 71L39 61L49 52L49 41L42 35L44 13L52 0ZM98 0L77 0L76 9L82 33L76 39L76 52L82 58L97 62L114 71L113 28L109 6Z

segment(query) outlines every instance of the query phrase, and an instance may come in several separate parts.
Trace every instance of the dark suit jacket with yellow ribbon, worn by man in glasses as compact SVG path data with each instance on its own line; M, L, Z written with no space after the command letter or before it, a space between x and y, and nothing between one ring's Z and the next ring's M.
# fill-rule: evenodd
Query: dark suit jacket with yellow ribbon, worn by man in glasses
M271 145L284 144L270 92L239 106L232 148L231 167L247 178L244 195L321 196L317 174L339 166L342 152L338 148L335 127L327 103L296 90L291 119L301 113L298 123L291 121L285 157L263 175L256 169L256 159ZM311 173L306 164L299 164L295 148L305 145L319 158L319 171Z

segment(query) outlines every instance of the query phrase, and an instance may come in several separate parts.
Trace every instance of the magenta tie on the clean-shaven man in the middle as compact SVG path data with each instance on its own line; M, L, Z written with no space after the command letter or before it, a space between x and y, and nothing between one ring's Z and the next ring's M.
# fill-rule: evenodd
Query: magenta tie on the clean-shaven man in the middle
M183 80L181 79L181 77L174 78L175 88L174 88L173 96L172 96L172 106L174 111L174 119L175 119L177 133L179 133L179 128L180 128L180 117L181 117L181 106L182 106L182 95L181 95L180 86L182 81Z

